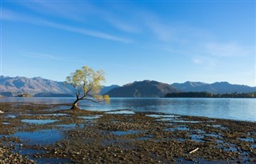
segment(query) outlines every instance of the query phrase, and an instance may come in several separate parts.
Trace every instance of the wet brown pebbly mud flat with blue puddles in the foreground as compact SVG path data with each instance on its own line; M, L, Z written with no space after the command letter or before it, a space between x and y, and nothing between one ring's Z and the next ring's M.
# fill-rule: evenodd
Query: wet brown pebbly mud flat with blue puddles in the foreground
M255 122L69 105L1 103L0 163L256 162Z

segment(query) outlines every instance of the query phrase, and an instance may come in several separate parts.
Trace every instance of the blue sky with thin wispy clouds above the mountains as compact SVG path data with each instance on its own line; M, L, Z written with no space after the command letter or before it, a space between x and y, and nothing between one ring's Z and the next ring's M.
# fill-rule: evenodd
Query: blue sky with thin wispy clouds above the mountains
M255 1L1 1L1 74L256 85Z

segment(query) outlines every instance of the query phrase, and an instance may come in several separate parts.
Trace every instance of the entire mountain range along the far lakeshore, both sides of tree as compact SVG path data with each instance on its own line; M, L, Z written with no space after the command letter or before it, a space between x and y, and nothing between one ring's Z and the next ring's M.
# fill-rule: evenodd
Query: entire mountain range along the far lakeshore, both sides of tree
M74 88L70 84L54 80L43 79L42 77L9 77L0 76L0 95L18 96L23 93L33 96L74 96ZM164 84L154 80L135 81L125 84L103 86L101 94L108 94L110 97L163 97L170 92L256 92L256 87L228 82L216 82L206 84L202 82L186 81L185 83Z

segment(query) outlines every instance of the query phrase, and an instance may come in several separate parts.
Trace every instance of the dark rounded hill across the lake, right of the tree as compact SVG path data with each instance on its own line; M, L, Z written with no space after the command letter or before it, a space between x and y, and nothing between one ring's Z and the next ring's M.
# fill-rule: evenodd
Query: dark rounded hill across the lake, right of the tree
M179 91L170 84L144 80L114 88L106 94L110 97L164 97L170 92Z

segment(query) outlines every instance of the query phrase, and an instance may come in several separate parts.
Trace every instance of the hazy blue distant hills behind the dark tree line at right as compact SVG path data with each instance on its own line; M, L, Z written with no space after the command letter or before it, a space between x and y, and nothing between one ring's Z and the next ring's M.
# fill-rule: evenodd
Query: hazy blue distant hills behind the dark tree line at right
M171 84L174 88L182 92L211 92L211 93L247 93L256 92L256 87L250 87L247 85L229 84L228 82L216 82L213 84L206 84L202 82L186 81L185 83Z

